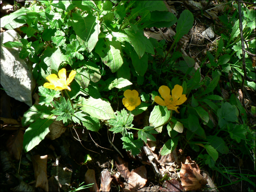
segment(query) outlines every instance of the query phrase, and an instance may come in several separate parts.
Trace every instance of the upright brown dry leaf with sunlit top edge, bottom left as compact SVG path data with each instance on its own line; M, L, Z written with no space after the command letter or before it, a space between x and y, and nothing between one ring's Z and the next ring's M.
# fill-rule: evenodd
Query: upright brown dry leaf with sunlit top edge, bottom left
M40 187L44 191L48 191L48 180L47 180L47 158L48 155L40 156L34 155L32 159L34 171L35 171L35 187Z

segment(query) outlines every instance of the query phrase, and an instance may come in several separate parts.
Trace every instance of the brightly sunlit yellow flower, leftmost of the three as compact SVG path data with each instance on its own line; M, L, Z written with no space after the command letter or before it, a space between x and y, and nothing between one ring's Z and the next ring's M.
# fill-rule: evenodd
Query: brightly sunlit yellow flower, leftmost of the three
M57 75L52 74L46 77L46 79L50 82L50 83L45 83L44 87L48 88L48 89L55 89L55 90L63 90L63 89L68 89L69 91L71 91L70 87L68 87L69 83L72 82L72 80L74 79L75 75L76 75L76 71L71 71L68 79L66 76L66 69L60 69L59 73L59 78L57 77Z

